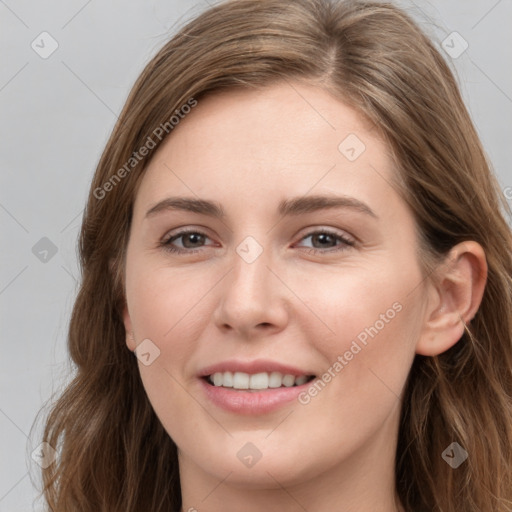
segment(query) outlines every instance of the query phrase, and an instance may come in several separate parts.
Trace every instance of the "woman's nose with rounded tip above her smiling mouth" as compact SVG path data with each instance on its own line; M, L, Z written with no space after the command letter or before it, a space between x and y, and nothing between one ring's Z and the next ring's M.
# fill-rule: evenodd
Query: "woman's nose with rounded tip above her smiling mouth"
M252 262L235 252L233 267L219 283L215 325L245 339L281 331L288 323L291 292L278 277L267 250Z

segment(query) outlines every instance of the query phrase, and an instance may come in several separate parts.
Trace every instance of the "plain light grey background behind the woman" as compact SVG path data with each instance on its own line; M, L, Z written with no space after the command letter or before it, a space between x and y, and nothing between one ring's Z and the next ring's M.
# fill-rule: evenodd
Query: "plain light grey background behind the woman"
M512 0L400 5L439 44L453 31L467 41L462 55L447 58L512 202ZM144 64L206 7L201 0L0 0L0 512L41 509L31 458L41 422L31 427L71 369L76 241L103 146ZM31 47L51 49L44 31L58 43L46 59Z

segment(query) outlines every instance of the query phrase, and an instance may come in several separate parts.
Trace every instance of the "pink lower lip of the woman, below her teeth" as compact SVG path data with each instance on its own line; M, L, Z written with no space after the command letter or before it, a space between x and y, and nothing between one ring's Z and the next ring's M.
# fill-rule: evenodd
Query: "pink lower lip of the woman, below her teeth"
M256 415L275 411L293 402L311 382L289 388L269 388L262 391L244 391L213 386L199 379L206 396L218 407L237 414Z

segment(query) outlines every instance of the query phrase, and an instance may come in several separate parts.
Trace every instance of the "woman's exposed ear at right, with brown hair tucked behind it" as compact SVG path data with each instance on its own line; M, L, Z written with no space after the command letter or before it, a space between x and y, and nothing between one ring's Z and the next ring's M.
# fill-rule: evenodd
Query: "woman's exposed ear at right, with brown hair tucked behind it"
M428 305L417 354L436 356L460 340L480 307L486 282L482 246L468 241L453 247L427 285Z

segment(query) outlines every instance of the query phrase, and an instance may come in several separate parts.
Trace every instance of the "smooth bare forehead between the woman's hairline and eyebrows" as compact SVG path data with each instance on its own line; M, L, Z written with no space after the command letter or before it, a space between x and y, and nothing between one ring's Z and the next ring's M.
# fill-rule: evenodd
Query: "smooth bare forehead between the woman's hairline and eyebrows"
M363 116L321 88L284 82L200 100L158 148L136 208L169 192L240 204L310 191L371 200L391 175L388 149Z

